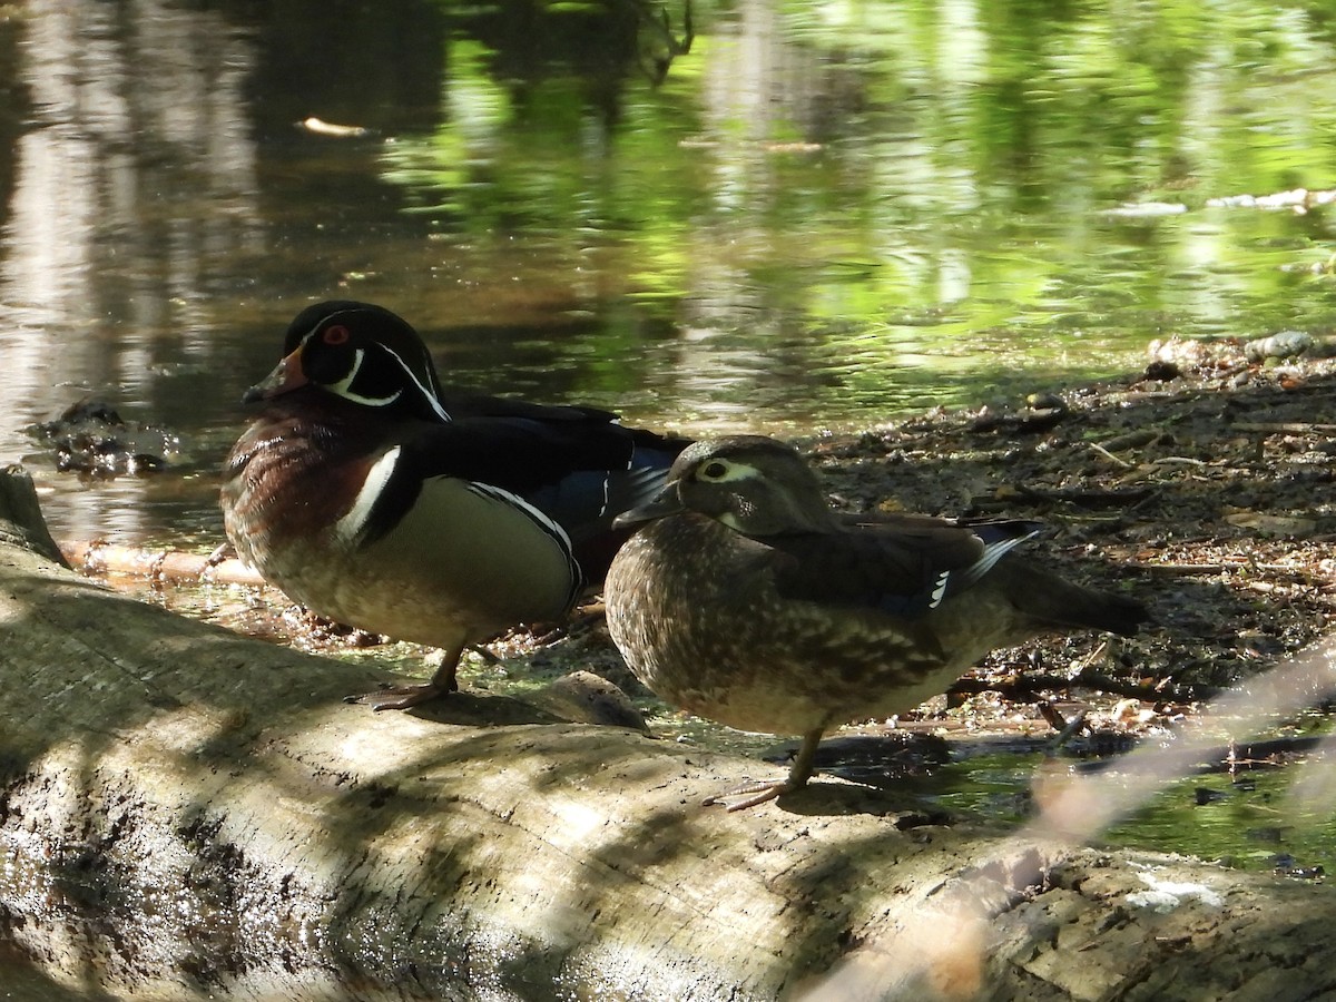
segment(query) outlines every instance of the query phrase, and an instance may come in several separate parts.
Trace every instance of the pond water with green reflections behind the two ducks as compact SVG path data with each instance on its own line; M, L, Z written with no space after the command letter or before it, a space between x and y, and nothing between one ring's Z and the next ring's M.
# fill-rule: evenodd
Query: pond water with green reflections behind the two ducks
M208 545L238 397L330 297L450 381L693 433L1321 334L1331 210L1210 203L1336 184L1333 11L0 8L0 458L57 537ZM28 428L87 394L174 470L57 476Z

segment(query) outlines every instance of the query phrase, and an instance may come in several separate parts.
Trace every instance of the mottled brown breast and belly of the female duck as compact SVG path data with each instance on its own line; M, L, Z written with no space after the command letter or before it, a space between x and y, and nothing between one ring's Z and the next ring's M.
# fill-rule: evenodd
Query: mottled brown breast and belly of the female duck
M927 623L786 597L786 562L704 516L647 525L608 573L612 636L653 692L744 731L888 715L959 675Z

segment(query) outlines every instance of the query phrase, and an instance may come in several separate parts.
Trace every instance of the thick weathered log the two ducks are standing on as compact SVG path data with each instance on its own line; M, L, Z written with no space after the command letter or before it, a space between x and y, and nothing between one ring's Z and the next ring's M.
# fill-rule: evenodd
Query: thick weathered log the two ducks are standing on
M8 477L0 520L31 518L23 497ZM1325 888L930 823L826 780L701 808L770 767L469 692L373 715L342 703L367 669L103 591L35 552L43 532L0 532L0 919L52 982L135 999L1336 989ZM1206 890L1142 907L1148 866Z

